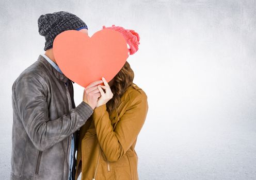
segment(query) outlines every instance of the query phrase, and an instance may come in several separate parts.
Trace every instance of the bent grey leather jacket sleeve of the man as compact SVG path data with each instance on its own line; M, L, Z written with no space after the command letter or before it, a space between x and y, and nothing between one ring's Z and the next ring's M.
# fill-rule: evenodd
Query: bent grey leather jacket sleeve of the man
M25 75L17 81L13 91L15 109L20 116L24 129L35 147L44 151L78 130L93 113L84 101L69 114L57 119L49 119L46 102L47 93L43 79Z

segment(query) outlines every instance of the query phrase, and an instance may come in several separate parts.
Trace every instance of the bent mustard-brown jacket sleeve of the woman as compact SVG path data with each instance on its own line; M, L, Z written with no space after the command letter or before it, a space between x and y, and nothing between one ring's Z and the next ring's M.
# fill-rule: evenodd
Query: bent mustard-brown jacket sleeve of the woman
M136 140L148 112L147 95L135 98L129 109L117 122L115 131L111 125L106 104L94 109L92 118L100 146L111 161L119 160Z

